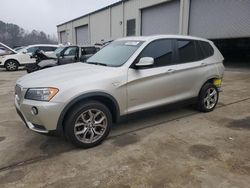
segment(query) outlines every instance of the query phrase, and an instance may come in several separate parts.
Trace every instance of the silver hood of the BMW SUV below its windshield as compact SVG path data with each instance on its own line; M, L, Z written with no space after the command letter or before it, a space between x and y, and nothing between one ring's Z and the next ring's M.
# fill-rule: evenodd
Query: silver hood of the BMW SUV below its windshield
M23 88L37 87L64 87L64 85L76 85L90 83L110 77L114 67L90 65L86 63L73 63L53 68L44 69L23 76L17 80L17 84Z

